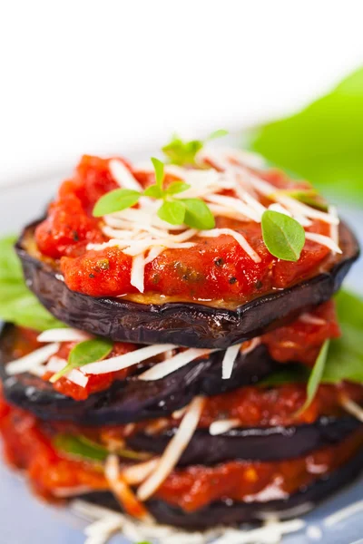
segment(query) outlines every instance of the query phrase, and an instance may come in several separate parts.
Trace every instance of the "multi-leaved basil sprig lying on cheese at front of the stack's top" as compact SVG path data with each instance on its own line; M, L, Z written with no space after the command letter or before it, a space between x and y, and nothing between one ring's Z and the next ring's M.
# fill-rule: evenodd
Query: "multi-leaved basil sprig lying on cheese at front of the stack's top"
M188 225L191 228L209 229L215 225L214 216L204 200L201 199L174 199L174 195L190 189L184 181L173 181L164 188L164 165L161 160L152 158L155 170L155 184L143 192L131 189L114 189L98 200L93 216L101 217L114 211L131 208L143 196L162 200L157 215L171 225Z

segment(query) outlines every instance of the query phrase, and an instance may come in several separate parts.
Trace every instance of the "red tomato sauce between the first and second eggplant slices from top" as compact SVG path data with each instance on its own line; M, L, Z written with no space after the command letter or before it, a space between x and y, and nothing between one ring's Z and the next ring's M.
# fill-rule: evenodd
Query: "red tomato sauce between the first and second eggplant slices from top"
M306 323L299 319L268 333L261 337L261 342L268 346L270 355L280 363L295 361L303 364L314 364L319 349L328 338L335 338L339 335L339 328L335 306L333 302L327 302L315 308L310 316L321 320L320 323ZM18 328L15 331L14 344L12 345L12 359L16 359L33 351L40 345L36 342L37 333L30 329ZM63 343L57 352L57 356L67 360L74 343ZM107 358L123 355L133 351L137 346L115 342L113 351ZM151 364L161 360L160 356L154 357ZM116 380L124 380L127 376L135 373L142 364L125 368L119 372L107 374L90 374L85 387L74 384L66 377L61 377L54 384L54 389L59 393L74 398L76 401L83 401L92 393L108 389ZM43 378L48 381L53 373L44 374Z

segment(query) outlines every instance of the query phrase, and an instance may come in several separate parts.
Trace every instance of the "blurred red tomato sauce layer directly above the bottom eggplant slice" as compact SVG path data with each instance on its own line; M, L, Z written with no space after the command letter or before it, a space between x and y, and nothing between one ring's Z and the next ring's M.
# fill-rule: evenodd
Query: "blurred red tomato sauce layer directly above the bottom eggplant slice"
M52 499L108 489L101 464L75 461L57 452L46 423L4 401L0 403L0 432L6 460L24 470L34 491L43 497ZM214 467L177 469L162 483L155 497L186 511L199 510L214 500L287 499L289 494L347 462L362 442L362 433L357 432L338 446L299 459L231 461Z

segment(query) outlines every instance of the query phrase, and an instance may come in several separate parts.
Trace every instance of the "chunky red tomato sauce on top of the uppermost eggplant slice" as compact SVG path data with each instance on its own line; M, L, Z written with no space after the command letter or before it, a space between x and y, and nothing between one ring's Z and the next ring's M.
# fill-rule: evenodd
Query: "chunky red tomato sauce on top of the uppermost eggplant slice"
M118 188L108 162L97 157L83 157L73 178L61 185L47 218L36 228L35 240L44 256L60 261L65 283L70 289L91 296L132 295L138 292L130 283L132 257L123 254L119 248L85 249L89 242L107 240L101 230L102 222L92 217L92 209L104 193ZM133 174L143 185L152 182L151 176L135 171ZM280 172L262 175L279 189L301 186L301 183L293 184ZM329 255L328 248L307 240L299 262L280 261L272 257L264 245L260 224L217 218L216 227L240 232L260 255L261 262L254 263L231 236L192 238L193 248L166 249L146 265L145 296L241 301L309 277ZM320 221L314 221L309 229L329 235L329 226Z

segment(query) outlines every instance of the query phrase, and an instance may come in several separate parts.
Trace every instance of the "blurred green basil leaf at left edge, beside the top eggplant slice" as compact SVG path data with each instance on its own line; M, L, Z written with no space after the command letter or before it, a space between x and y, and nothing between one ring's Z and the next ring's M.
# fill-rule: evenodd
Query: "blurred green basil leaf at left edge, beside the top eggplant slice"
M25 286L15 241L11 236L0 239L0 319L36 331L65 327Z

